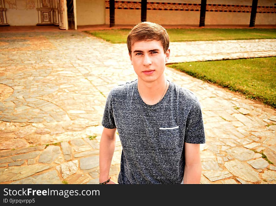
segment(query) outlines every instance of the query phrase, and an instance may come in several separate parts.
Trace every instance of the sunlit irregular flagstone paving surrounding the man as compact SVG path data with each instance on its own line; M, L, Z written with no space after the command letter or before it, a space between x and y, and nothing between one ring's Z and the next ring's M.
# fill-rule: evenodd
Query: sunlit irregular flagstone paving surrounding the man
M170 62L276 56L275 43L172 42ZM1 184L98 183L106 97L112 87L136 79L127 52L126 44L80 31L0 33ZM202 184L276 183L274 109L172 68L166 76L202 105ZM116 137L115 182L121 154Z

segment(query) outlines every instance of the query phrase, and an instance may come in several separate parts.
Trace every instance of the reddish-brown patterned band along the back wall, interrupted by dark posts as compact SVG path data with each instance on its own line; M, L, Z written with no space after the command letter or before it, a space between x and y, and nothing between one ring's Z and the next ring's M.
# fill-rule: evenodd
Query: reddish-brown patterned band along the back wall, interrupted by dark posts
M109 1L105 1L109 9ZM141 2L115 1L115 9L141 9ZM147 2L147 10L200 11L200 3ZM206 4L206 12L250 13L251 6L230 4ZM276 6L258 6L257 13L276 13Z

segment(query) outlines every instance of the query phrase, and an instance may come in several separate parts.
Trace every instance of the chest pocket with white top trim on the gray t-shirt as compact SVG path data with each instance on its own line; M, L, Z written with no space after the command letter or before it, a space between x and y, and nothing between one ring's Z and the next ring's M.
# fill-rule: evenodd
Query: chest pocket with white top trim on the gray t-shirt
M159 149L176 150L179 142L179 126L159 128Z

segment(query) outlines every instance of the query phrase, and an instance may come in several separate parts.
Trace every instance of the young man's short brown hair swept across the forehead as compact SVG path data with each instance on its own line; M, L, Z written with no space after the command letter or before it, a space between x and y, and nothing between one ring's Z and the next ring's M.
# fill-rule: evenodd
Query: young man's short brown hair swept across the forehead
M135 41L157 40L161 41L164 53L169 48L169 35L164 27L152 22L136 24L127 36L127 48L131 55L131 46Z

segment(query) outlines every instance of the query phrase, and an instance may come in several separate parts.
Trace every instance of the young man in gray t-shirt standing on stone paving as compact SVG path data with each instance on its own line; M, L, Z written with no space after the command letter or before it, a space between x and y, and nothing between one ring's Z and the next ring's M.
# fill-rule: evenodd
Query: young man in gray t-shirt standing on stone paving
M200 144L205 143L195 95L169 82L169 36L161 25L137 24L127 37L135 80L114 87L107 98L100 141L100 184L114 184L109 170L119 133L119 184L199 184Z

